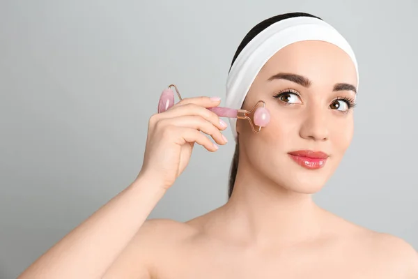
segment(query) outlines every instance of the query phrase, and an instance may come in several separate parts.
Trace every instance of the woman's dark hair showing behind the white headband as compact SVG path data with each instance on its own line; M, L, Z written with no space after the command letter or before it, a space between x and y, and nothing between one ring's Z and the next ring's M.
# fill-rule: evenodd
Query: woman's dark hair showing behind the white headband
M262 22L258 23L255 27L253 27L247 35L242 39L240 45L238 46L237 51L235 52L235 55L233 56L231 67L233 66L233 63L235 62L235 59L237 59L240 52L244 49L244 47L255 37L266 29L267 27L270 27L271 24L274 24L276 22L279 22L281 20L286 20L291 17L316 17L315 15L311 15L309 13L285 13L281 15L275 15L274 17L270 17L267 20L263 20ZM316 17L318 20L322 20L320 17ZM231 70L231 67L229 70ZM232 159L232 165L231 165L231 172L229 174L229 190L228 190L228 198L231 197L233 186L235 185L235 178L237 176L238 171L238 160L239 160L239 154L240 153L240 146L237 139L237 144L235 146L235 152L233 153L233 159Z

